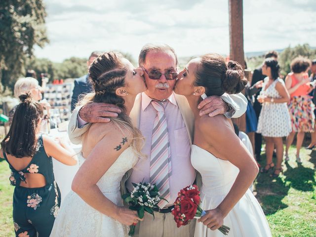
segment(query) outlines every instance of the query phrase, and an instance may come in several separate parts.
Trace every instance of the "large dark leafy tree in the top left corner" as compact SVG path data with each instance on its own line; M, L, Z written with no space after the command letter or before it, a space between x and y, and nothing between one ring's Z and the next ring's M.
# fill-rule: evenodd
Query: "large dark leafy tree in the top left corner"
M48 43L46 11L42 0L0 1L0 79L13 87L25 74L24 64L33 55L34 45Z

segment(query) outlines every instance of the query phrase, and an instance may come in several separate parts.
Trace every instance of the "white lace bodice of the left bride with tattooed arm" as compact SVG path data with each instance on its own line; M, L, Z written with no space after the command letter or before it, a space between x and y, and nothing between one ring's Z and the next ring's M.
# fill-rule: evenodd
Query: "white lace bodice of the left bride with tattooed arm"
M79 159L84 159L81 153ZM132 147L128 147L123 151L98 181L97 185L101 192L106 196L119 193L120 181L123 175L135 165L137 159Z

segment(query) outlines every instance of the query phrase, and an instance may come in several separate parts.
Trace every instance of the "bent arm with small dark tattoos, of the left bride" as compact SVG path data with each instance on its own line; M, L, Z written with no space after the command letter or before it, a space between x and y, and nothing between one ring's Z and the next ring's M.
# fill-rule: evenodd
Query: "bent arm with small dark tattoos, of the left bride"
M140 220L137 212L129 210L127 207L117 206L105 197L97 186L97 182L104 173L128 148L128 142L124 142L125 138L129 141L130 136L123 136L118 128L113 128L107 133L79 168L72 183L72 190L99 212L124 225L132 225Z

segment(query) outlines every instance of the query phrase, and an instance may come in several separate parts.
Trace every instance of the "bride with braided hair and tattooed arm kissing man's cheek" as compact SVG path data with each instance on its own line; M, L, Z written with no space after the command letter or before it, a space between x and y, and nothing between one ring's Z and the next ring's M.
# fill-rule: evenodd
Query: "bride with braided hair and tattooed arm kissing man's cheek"
M101 54L90 66L95 92L81 104L115 104L122 113L108 123L93 123L85 133L85 161L61 204L51 237L125 237L127 226L140 220L137 212L123 207L119 188L124 173L142 157L142 135L127 115L136 95L147 89L143 74L114 52Z

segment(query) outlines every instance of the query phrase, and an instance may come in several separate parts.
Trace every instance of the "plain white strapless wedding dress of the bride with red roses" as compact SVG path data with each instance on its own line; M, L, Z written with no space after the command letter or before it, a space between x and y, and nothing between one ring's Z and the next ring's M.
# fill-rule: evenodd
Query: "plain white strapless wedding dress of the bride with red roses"
M238 168L228 160L192 145L191 162L202 176L201 204L203 210L216 208L231 190ZM224 218L224 225L231 228L227 237L271 237L265 214L251 191L240 198ZM195 237L226 237L220 231L196 222Z

